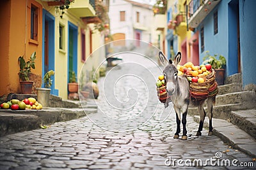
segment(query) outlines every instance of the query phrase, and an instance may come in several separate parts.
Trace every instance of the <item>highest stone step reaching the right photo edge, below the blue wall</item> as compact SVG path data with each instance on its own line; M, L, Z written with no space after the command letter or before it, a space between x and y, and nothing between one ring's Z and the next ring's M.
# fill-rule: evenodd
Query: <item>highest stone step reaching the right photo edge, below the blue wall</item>
M253 91L243 91L243 92L233 92L229 94L222 94L216 96L215 106L224 104L236 104L236 103L246 103L253 104L256 103L256 94Z

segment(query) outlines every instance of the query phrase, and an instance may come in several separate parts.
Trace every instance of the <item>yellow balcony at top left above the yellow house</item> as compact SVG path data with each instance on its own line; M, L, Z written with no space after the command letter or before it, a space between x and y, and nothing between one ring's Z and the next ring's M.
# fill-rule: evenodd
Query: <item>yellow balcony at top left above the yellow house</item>
M95 0L76 0L70 5L68 11L77 17L93 17L96 13Z

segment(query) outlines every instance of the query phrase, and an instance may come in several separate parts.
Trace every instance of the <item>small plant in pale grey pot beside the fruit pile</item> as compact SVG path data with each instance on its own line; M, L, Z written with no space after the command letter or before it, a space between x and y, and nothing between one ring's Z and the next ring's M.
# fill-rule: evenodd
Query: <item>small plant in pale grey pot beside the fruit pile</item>
M54 75L54 71L50 70L44 74L44 87L45 88L36 88L36 94L38 102L41 103L44 108L49 107L49 100L50 100L50 92L51 92L51 85L52 79L51 76ZM42 85L41 85L42 87Z

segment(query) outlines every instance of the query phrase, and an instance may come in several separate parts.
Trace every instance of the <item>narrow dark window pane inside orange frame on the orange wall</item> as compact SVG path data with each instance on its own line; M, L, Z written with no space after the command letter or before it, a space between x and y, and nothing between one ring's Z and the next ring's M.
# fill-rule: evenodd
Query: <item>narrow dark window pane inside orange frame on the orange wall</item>
M38 36L38 7L31 4L31 39L37 41Z

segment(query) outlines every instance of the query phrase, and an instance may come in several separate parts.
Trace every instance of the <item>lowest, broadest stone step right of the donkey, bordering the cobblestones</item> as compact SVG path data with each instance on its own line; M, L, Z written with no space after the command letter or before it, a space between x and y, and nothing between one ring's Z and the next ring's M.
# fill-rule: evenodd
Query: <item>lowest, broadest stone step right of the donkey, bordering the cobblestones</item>
M199 116L194 116L195 122L200 122ZM221 138L224 143L244 152L251 157L256 157L256 141L249 134L239 129L236 125L214 118L212 120L213 134ZM209 129L209 119L205 117L204 127Z

